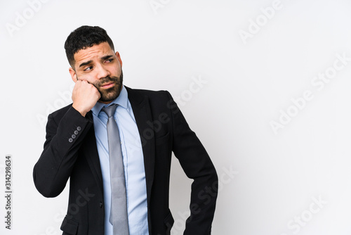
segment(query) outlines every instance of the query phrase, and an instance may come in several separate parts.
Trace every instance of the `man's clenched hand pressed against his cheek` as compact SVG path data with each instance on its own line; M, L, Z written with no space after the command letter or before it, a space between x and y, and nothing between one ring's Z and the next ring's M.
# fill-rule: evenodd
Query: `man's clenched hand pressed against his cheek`
M100 92L93 84L85 80L78 80L72 91L72 107L85 117L86 113L98 102L100 96Z

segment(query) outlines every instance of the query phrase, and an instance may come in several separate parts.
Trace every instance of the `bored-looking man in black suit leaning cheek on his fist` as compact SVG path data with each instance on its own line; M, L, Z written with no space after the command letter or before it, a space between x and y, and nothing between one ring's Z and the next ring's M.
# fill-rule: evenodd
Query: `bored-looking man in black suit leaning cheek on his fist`
M121 56L100 27L77 28L65 50L73 103L48 116L33 172L46 197L69 179L63 234L170 234L172 151L194 179L184 234L211 234L216 170L168 91L124 87Z

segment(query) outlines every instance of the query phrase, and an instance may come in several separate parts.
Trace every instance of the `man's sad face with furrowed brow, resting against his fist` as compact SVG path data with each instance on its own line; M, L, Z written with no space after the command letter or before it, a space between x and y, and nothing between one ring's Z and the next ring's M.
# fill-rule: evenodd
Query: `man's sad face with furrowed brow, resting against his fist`
M77 51L74 60L75 69L69 68L74 82L93 84L101 94L101 103L110 103L119 96L123 82L121 56L107 42Z

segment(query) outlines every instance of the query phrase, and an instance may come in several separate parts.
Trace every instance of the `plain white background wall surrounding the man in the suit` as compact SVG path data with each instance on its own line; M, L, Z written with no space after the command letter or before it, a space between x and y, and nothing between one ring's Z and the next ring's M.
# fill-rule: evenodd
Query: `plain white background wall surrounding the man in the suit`
M221 179L213 234L350 234L350 12L348 0L1 0L0 188L11 154L13 217L9 231L4 189L0 234L62 234L68 190L44 198L32 169L48 113L70 103L63 44L81 25L107 30L128 87L180 97ZM173 235L190 184L173 158Z

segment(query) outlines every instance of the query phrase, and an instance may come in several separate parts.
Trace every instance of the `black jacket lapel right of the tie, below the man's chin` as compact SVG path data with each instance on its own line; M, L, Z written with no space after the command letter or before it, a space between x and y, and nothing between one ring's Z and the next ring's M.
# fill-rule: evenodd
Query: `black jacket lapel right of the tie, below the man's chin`
M133 89L126 87L128 91L128 99L131 102L136 125L140 134L141 144L143 146L146 189L147 189L147 205L150 205L150 194L152 182L154 182L154 131L147 125L147 121L152 121L149 99L142 96ZM150 136L150 132L152 135Z

